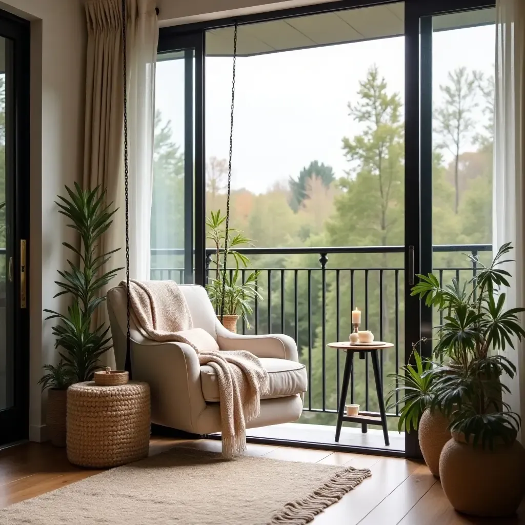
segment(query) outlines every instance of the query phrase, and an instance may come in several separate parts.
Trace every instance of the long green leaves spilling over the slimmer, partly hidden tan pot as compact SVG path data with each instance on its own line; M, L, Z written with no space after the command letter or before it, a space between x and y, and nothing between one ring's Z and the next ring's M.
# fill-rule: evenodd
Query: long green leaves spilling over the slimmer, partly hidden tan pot
M406 432L412 429L417 430L421 415L433 401L434 376L428 374L432 370L432 361L422 358L415 349L413 356L415 366L409 363L401 367L402 373L388 374L388 377L392 377L396 383L401 384L395 387L386 398L388 408L395 407L397 404L401 405L397 424L399 432L402 432L403 429L406 429ZM395 401L392 403L396 394L402 394L402 397L397 403Z

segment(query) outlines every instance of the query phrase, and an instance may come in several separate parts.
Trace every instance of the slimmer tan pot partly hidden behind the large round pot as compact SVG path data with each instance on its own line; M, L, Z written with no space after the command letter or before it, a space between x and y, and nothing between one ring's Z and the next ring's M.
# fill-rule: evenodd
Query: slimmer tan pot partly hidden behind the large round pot
M439 477L439 456L450 439L448 423L448 419L441 412L430 412L428 408L419 421L419 448L430 472L436 478Z

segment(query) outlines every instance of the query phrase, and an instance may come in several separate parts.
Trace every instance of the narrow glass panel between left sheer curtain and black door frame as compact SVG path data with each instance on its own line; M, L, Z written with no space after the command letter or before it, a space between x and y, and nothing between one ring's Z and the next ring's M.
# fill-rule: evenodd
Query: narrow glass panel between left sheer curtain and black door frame
M186 184L193 184L193 141L185 135L185 122L193 120L194 102L188 107L186 101L188 93L194 99L194 70L193 50L159 55L156 65L151 278L179 283L193 280L193 265L185 262L185 215L192 205L184 193Z

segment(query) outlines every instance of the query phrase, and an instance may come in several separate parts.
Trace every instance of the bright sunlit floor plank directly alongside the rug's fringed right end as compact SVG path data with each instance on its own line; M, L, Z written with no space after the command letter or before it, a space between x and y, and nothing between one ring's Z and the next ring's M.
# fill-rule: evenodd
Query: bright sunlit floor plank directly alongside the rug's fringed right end
M352 465L350 462L349 465ZM413 474L419 464L398 458L381 458L370 467L372 477L351 490L337 504L328 507L314 520L314 525L357 525L383 499ZM382 525L379 522L377 525Z

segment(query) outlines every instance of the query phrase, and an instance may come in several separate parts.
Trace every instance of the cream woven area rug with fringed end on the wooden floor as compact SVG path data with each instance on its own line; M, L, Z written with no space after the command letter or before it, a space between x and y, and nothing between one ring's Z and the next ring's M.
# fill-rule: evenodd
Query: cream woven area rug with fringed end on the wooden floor
M175 447L0 509L8 525L304 525L371 476Z

